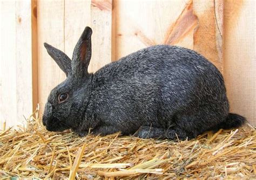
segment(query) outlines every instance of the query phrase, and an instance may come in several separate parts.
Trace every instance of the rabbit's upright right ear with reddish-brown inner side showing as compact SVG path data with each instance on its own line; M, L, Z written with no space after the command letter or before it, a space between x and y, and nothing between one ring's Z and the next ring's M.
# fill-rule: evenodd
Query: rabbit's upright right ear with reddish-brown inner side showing
M87 68L91 60L91 36L92 29L85 27L79 38L72 57L72 74L78 76L87 74Z

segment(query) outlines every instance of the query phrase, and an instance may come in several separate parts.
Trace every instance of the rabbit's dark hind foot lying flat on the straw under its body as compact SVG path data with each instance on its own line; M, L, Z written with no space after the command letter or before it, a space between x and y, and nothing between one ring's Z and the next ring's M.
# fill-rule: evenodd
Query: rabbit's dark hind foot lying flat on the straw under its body
M169 139L169 140L185 140L187 137L188 139L192 139L189 134L186 133L183 129L179 127L174 127L171 129L163 129L163 128L156 128L150 126L142 126L139 130L134 134L134 136L144 138L144 139Z

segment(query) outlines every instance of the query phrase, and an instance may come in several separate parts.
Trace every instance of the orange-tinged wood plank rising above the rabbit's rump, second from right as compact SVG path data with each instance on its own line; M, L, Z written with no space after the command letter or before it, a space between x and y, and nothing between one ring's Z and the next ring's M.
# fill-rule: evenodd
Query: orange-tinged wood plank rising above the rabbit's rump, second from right
M193 0L198 27L194 32L194 50L223 72L223 0Z

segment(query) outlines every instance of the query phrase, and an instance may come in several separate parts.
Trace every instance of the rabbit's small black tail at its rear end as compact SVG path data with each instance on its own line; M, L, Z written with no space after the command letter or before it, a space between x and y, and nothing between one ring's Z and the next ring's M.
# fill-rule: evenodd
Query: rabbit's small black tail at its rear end
M223 123L221 123L220 128L222 129L238 128L242 126L242 124L244 124L245 121L246 121L245 117L241 115L228 113L226 120Z

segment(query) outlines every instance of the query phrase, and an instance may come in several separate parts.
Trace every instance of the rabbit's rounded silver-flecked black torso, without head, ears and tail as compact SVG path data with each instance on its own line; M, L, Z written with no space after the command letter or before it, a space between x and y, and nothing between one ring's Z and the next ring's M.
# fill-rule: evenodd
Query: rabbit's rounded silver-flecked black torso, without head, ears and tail
M134 52L97 71L92 86L96 118L124 134L146 125L168 128L199 109L209 112L199 115L199 126L217 125L228 114L218 69L182 47L157 45Z

